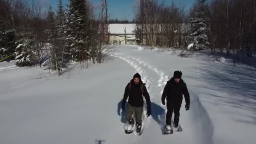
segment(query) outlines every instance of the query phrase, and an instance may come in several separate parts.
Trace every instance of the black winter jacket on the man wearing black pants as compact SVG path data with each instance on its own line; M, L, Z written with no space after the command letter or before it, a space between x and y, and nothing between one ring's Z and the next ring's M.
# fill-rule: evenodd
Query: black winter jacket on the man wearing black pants
M176 83L172 77L169 80L163 90L162 101L167 100L167 102L182 103L182 94L185 97L186 104L190 104L189 92L187 90L186 83L181 79L179 83Z

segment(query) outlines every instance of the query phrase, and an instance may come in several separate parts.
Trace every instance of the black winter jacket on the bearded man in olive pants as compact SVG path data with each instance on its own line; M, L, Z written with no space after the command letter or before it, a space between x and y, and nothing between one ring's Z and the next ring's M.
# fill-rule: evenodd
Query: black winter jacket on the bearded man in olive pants
M129 90L129 85L131 83L131 90ZM145 97L147 102L147 107L151 106L149 93L147 92L147 88L144 83L140 80L138 85L135 85L133 80L128 83L128 85L125 87L125 93L123 95L123 105L125 104L125 101L127 100L128 96L128 103L131 104L133 107L143 107L144 100L142 95ZM143 93L141 91L141 86L143 88Z

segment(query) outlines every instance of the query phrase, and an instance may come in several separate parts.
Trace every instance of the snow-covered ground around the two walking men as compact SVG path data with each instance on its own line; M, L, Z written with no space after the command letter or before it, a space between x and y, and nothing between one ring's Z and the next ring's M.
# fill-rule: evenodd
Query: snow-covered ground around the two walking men
M140 48L139 48L140 49ZM60 77L39 67L0 63L1 144L254 144L256 75L248 69L212 61L211 57L181 58L138 46L120 46L104 64ZM181 106L182 132L162 135L164 85L182 71L191 106ZM152 101L152 116L143 120L141 136L124 133L121 99L139 72ZM146 113L145 106L145 112Z

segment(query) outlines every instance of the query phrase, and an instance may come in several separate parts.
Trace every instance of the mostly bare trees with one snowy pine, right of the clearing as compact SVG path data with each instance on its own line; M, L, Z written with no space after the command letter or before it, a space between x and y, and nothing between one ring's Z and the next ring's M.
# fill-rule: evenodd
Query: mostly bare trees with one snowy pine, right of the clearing
M197 0L184 5L140 0L135 15L141 44L212 53L256 51L256 0Z

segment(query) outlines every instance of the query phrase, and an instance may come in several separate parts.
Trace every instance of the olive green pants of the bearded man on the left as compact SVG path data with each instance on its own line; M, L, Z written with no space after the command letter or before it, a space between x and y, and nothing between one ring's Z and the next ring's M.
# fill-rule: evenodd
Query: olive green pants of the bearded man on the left
M135 120L137 123L142 123L143 107L133 107L128 104L127 113L125 119L129 121L132 118L133 112L135 113Z

